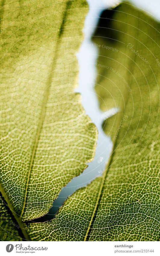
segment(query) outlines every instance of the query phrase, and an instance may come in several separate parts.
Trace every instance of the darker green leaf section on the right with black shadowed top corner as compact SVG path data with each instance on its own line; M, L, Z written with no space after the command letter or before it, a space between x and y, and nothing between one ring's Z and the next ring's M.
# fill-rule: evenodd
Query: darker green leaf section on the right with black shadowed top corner
M95 89L102 110L120 108L105 124L113 152L103 177L76 191L51 223L29 225L32 240L159 239L159 32L127 3L102 14Z

